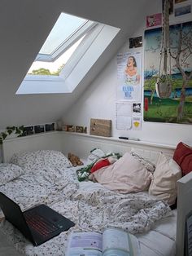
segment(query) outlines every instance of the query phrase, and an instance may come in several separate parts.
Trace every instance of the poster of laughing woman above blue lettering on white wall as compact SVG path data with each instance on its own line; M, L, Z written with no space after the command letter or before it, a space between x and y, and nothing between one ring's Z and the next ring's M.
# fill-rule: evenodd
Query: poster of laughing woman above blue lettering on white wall
M117 55L117 101L141 102L142 53Z

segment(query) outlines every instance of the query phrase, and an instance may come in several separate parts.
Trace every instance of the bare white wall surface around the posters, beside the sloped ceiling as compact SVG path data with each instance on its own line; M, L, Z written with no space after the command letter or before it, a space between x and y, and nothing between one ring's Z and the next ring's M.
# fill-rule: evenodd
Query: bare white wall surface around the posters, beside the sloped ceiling
M191 1L188 1L191 3ZM148 15L161 12L161 1L154 2L154 5L147 6ZM142 15L142 14L141 14ZM191 14L190 14L191 15ZM190 20L190 15L180 16L176 19L171 18L172 24ZM133 34L134 36L143 35L146 29L146 15L143 15L141 27ZM129 51L127 38L124 46L120 49L120 53ZM138 50L138 48L137 48ZM89 88L84 92L76 104L63 117L63 123L69 125L88 126L90 118L104 118L112 120L112 136L128 136L137 137L144 141L156 143L168 143L177 145L183 141L192 145L192 126L165 124L142 121L142 130L116 130L116 86L117 86L117 65L116 55L107 64L102 73L92 82ZM89 132L89 129L88 129Z

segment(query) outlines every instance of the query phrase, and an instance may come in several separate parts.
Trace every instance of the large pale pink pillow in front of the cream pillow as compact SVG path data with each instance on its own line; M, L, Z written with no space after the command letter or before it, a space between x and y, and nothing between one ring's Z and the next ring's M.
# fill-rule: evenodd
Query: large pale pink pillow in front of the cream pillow
M94 178L104 187L121 193L141 192L149 188L152 174L129 152L124 153L111 166L94 173Z

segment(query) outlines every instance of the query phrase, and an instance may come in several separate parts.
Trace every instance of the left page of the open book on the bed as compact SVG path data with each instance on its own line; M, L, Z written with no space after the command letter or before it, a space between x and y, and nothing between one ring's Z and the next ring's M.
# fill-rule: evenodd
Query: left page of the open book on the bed
M73 232L68 242L67 256L102 256L102 234Z

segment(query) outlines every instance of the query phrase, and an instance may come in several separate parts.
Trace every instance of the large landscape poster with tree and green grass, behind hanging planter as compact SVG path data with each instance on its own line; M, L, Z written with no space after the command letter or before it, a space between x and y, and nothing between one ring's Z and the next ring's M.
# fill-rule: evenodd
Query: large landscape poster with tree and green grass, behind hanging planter
M145 31L144 121L192 124L192 22L169 27L172 93L155 91L159 72L161 28Z

